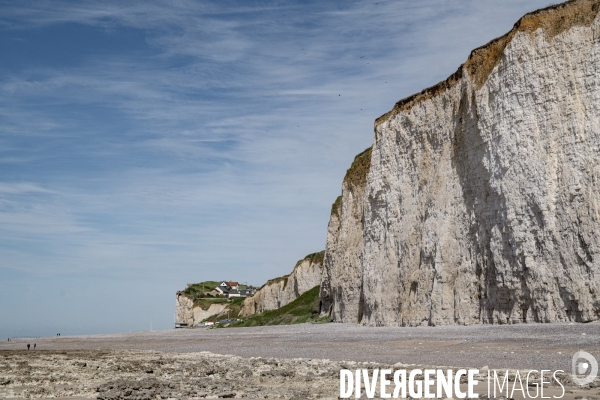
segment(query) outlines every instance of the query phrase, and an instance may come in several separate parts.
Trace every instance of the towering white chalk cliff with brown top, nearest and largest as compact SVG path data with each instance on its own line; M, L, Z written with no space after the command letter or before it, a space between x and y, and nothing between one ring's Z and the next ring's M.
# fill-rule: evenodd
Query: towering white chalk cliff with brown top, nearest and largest
M599 8L526 15L376 121L329 224L334 321L600 319Z

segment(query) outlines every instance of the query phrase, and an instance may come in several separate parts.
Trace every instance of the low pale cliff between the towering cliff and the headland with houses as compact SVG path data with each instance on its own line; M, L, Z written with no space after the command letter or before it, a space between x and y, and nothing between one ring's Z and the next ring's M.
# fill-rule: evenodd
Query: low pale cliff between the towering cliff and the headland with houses
M298 261L291 274L272 279L242 303L240 316L275 310L296 300L307 290L318 286L323 273L323 252Z

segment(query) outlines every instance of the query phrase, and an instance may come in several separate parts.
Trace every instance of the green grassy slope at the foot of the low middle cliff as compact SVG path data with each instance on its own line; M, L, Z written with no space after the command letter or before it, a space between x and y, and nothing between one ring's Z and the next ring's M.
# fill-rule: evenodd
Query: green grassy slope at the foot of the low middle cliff
M303 322L331 322L330 318L319 318L319 286L304 292L296 300L277 310L264 311L260 314L246 317L243 321L236 322L231 327L261 326L261 325L289 325Z

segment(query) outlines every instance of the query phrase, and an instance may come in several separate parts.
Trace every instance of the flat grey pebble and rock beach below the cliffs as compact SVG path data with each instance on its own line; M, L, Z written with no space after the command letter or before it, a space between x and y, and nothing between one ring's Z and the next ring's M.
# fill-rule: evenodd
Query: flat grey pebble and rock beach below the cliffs
M37 350L25 350L27 343ZM579 349L600 358L600 323L304 324L14 339L0 344L0 399L337 398L339 370L364 368L356 362L371 362L369 368L485 365L570 373ZM600 381L587 387L569 382L565 375L564 399L600 399Z

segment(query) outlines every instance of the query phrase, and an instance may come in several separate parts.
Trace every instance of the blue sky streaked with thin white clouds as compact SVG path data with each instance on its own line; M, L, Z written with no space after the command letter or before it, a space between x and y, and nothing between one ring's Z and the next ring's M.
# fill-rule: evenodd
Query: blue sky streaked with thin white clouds
M0 337L172 327L325 246L373 121L538 0L1 1Z

